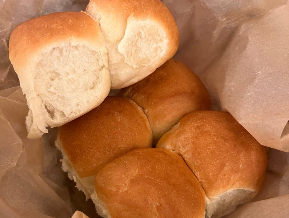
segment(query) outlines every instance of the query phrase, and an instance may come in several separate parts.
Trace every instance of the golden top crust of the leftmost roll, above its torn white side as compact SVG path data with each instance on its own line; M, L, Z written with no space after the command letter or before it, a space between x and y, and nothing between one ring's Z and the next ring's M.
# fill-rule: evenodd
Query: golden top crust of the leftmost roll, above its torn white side
M98 24L85 12L57 12L19 24L11 33L9 57L17 74L26 73L31 59L47 47L62 42L88 43L107 54ZM36 57L37 58L37 57Z

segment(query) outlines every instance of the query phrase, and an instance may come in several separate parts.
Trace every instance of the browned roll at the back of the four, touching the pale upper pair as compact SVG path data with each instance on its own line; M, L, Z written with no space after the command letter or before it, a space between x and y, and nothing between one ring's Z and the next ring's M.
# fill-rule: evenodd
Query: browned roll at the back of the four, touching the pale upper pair
M154 144L191 111L210 110L204 84L184 64L173 59L140 82L124 88L121 95L144 109Z

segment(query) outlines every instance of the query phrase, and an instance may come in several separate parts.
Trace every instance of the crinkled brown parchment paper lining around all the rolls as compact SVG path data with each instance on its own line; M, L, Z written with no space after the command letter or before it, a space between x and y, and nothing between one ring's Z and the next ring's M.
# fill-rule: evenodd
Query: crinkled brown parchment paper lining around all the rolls
M180 31L175 58L207 86L213 109L229 111L261 144L289 151L287 0L163 0ZM9 62L21 22L85 10L87 0L0 0L0 217L98 217L61 170L57 128L26 138L26 100ZM269 149L263 187L227 218L289 217L289 153ZM86 218L76 212L74 218Z

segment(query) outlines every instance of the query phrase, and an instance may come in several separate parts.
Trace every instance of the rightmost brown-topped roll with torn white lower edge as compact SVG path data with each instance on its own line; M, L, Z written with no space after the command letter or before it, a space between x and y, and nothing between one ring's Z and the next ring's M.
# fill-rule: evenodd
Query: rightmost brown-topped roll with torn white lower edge
M184 158L208 197L208 217L221 217L251 200L265 176L265 147L229 113L192 112L164 134L157 147Z

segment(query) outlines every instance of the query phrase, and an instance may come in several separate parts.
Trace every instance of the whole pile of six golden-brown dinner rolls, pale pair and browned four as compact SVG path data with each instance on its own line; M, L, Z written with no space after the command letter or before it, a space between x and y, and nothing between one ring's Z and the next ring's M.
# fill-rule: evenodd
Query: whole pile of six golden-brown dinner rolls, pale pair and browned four
M260 189L265 148L208 111L204 84L171 59L178 45L160 0L91 0L11 34L28 137L60 126L62 168L105 218L219 218Z

